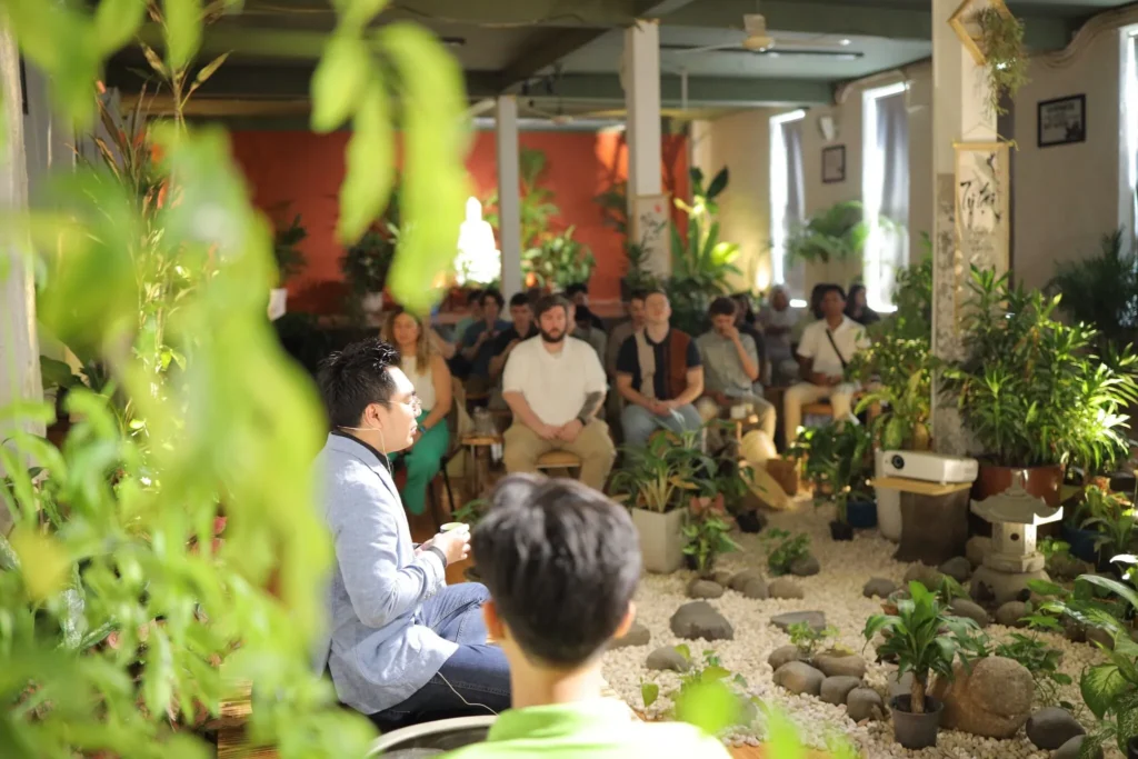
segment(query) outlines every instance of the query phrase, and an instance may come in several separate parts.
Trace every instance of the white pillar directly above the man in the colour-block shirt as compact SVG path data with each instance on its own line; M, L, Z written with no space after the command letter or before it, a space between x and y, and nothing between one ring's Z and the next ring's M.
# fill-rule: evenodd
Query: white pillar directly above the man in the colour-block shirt
M628 113L625 138L628 143L628 217L636 233L636 198L663 193L660 146L660 25L638 20L625 30L624 59L625 108ZM666 239L666 238L665 238ZM640 240L633 239L633 242ZM649 269L666 274L670 258L657 248Z

